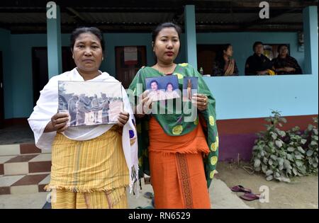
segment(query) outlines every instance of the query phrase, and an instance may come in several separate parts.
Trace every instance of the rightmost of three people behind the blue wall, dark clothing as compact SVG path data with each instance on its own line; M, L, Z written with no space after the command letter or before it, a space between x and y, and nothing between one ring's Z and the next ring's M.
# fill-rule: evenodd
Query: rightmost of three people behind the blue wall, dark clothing
M295 58L289 56L288 46L278 46L278 57L272 59L276 74L303 74Z

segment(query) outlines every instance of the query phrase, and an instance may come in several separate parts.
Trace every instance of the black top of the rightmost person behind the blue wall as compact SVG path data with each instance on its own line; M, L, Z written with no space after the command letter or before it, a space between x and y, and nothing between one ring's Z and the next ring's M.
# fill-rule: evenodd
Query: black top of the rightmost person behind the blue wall
M297 60L289 55L286 58L276 57L272 59L272 64L274 64L275 69L284 68L284 67L292 67L296 69L294 72L276 72L277 74L303 74L301 67L299 66Z

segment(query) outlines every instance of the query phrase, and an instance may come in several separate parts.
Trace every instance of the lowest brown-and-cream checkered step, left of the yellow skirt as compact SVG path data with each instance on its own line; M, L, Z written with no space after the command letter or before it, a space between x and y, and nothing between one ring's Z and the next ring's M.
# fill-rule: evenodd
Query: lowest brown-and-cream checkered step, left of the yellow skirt
M50 173L29 173L0 176L0 195L28 194L45 192L50 182Z

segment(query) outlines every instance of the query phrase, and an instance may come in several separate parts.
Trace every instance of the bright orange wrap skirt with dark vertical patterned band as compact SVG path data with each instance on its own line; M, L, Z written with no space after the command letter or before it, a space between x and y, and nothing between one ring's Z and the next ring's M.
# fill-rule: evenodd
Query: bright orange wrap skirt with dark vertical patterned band
M150 120L150 174L155 208L211 208L203 155L209 148L201 125L172 137Z

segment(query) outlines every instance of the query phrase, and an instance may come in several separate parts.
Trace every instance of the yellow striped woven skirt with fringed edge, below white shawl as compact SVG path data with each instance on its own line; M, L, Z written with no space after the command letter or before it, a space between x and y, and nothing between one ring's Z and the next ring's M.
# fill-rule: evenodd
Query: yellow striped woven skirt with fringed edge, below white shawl
M129 172L121 130L74 141L57 134L52 144L52 208L127 208Z

